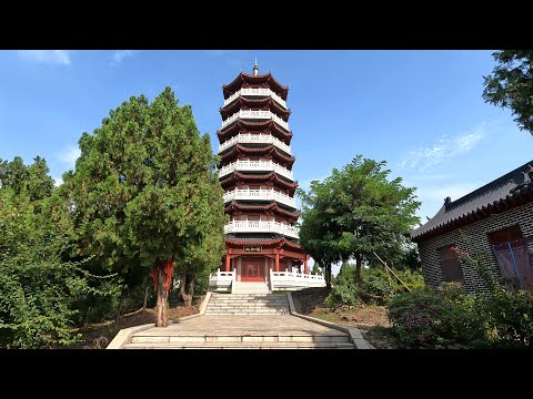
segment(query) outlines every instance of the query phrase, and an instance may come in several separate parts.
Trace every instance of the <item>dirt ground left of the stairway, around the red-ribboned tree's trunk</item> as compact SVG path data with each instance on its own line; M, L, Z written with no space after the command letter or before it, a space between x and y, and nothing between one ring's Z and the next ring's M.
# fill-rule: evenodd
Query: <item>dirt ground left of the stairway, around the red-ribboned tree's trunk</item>
M179 317L195 315L200 311L200 305L202 304L203 296L193 299L192 306L187 308L183 304L169 308L169 320L177 319ZM74 329L72 332L81 334L82 341L70 346L58 346L54 349L105 349L111 342L117 332L122 328L129 328L134 326L141 326L144 324L155 323L155 309L147 308L143 313L142 309L122 315L119 320L119 325L115 325L114 320L108 320L104 323L89 325L88 327Z

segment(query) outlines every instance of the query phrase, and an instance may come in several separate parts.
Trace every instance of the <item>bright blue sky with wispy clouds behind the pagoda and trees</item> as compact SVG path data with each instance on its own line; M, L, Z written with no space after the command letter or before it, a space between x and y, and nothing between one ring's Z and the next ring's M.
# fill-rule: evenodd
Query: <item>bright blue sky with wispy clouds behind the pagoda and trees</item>
M78 140L130 95L164 86L191 104L202 133L220 129L221 85L240 70L290 86L289 125L300 185L356 154L388 161L416 186L419 215L533 158L533 137L482 100L492 51L0 51L0 158L44 157L59 178Z

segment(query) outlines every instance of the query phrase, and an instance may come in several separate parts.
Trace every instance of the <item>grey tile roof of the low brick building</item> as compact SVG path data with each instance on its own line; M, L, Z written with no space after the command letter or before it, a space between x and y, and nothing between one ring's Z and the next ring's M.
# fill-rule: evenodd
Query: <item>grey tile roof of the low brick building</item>
M413 241L447 226L450 223L491 208L509 198L531 194L533 191L533 160L495 181L474 190L459 200L444 200L439 212L424 225L410 232Z

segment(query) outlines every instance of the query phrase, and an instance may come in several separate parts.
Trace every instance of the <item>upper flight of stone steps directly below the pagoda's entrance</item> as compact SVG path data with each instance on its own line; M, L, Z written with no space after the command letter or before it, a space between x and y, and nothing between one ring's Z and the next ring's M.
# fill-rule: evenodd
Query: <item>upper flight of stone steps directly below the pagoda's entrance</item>
M289 315L285 294L212 294L209 315Z

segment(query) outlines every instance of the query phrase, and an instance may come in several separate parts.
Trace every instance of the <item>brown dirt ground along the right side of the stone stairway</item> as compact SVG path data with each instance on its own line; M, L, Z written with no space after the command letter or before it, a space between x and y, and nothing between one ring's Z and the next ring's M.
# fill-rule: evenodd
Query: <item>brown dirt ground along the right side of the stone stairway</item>
M341 326L358 327L373 347L378 349L401 348L390 329L389 317L384 306L339 306L329 309L324 299L330 294L328 288L306 288L292 293L295 310Z

